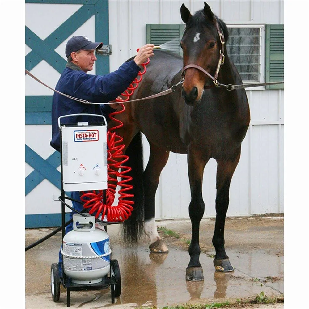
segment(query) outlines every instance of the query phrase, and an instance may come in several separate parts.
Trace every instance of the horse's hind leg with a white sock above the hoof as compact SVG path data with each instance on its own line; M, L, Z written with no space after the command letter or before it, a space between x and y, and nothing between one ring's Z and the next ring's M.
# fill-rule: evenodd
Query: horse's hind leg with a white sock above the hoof
M155 193L159 184L161 171L169 156L169 151L150 144L150 156L146 169L143 173L144 196L145 196L145 234L150 238L150 251L165 253L167 246L161 240L155 223Z

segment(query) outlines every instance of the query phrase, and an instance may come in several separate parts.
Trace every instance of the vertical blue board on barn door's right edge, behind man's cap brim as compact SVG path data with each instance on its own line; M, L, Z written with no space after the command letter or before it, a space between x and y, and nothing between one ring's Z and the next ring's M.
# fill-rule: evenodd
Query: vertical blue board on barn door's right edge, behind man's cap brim
M95 41L109 44L108 0L98 0L95 4ZM95 73L109 73L109 56L96 54Z

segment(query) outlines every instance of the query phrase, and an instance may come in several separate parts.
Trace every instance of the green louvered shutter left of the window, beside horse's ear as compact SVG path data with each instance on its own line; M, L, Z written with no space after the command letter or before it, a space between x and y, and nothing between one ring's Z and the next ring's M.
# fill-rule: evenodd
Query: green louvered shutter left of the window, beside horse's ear
M157 24L146 24L146 44L155 44L156 46L162 45L163 43L169 42L171 40L180 39L184 33L184 25L157 25ZM182 50L179 48L179 55L182 56Z

